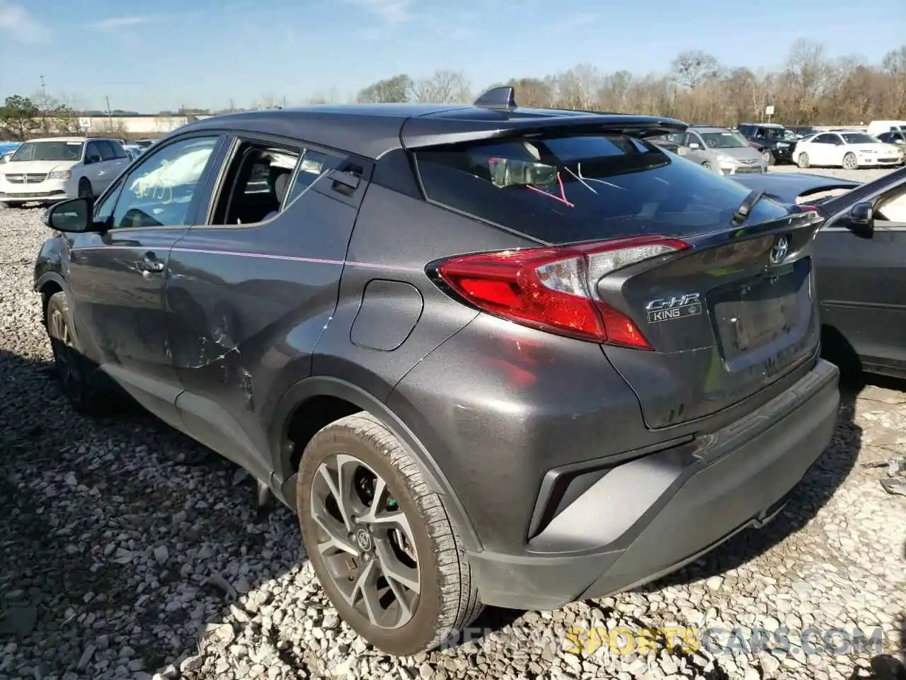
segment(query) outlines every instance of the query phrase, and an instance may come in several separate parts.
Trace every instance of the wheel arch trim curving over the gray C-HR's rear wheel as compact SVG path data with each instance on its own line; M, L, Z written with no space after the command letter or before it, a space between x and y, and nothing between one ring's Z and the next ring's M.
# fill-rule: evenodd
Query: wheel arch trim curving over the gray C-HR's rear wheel
M306 412L305 408L313 408L313 412ZM360 411L371 413L400 440L419 466L431 491L438 493L444 500L450 519L456 523L463 546L471 551L480 550L481 543L458 495L415 433L385 403L357 385L333 377L313 376L299 381L284 393L275 409L270 432L271 452L274 470L281 480L281 491L290 507L295 507L296 473L298 461L302 457L302 452L296 450L304 451L305 444L324 425ZM308 439L304 442L290 441L289 433L294 423L304 422L309 413L323 417L318 428L314 430L313 423L308 424L304 426Z

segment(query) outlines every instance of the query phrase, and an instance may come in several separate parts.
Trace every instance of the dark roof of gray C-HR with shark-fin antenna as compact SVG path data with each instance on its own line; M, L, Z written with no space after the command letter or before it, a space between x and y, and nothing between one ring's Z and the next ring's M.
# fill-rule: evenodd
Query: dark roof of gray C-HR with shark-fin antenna
M506 102L488 95L509 91ZM499 92L498 92L499 94ZM417 149L461 141L506 139L521 134L570 131L632 131L641 136L683 131L686 123L660 116L535 109L516 105L512 88L496 88L477 104L343 104L225 113L190 122L191 130L236 130L309 141L365 158L395 149Z

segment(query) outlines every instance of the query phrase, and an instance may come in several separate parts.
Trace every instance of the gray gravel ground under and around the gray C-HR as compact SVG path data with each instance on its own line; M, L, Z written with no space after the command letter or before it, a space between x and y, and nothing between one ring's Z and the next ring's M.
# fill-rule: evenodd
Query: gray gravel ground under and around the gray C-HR
M906 498L858 463L906 452L906 384L845 393L834 442L766 529L649 588L487 610L471 641L392 658L338 621L294 517L257 515L235 465L142 413L92 421L68 407L30 290L40 214L0 209L0 680L901 677ZM606 629L620 646L621 627L676 625L744 642L574 655L565 637ZM755 627L788 627L788 651L742 646ZM884 654L806 655L809 627L882 627Z

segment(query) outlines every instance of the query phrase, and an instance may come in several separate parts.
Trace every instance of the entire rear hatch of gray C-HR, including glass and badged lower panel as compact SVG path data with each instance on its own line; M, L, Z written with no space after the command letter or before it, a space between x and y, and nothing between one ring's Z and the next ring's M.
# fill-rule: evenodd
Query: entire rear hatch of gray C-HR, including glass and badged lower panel
M573 263L579 251L626 239L682 242L677 251L624 262L600 277L591 258L575 270L588 277L604 325L609 308L612 319L628 317L647 340L644 347L644 340L621 346L611 335L602 361L637 394L651 428L717 413L816 353L814 212L765 197L743 217L750 189L626 129L560 128L429 147L414 156L430 200L554 245L554 260ZM529 267L525 276L537 271ZM619 333L622 322L615 323Z

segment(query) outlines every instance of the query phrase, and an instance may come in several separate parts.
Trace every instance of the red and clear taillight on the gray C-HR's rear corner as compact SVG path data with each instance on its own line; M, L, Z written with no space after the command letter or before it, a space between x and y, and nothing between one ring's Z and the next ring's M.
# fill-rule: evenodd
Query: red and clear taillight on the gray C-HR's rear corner
M618 238L564 248L452 257L439 277L490 314L560 335L651 349L629 316L604 303L597 284L612 271L689 248L675 238Z

